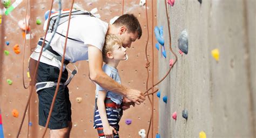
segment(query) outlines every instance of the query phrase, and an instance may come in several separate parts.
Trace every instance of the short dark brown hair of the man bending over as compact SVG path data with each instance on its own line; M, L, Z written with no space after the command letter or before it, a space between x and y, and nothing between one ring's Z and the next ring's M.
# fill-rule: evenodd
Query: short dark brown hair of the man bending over
M113 25L126 26L128 32L138 32L138 39L142 36L142 27L140 27L139 20L133 14L125 14L117 18Z

